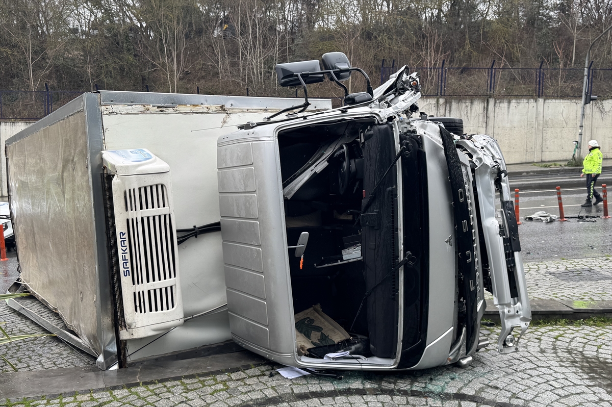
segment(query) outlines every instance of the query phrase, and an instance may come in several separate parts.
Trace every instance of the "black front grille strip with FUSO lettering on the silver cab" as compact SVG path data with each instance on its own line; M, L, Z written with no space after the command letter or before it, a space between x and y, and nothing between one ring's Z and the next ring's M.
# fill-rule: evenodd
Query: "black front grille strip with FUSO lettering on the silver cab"
M439 129L446 163L449 168L450 187L453 196L459 299L460 302L461 299L465 302L464 312L461 312L463 305L458 304L460 307L459 322L465 324L466 343L471 344L475 342L477 335L479 335L477 275L472 234L474 225L469 215L466 185L453 136L444 127L440 126ZM461 318L462 314L463 318Z

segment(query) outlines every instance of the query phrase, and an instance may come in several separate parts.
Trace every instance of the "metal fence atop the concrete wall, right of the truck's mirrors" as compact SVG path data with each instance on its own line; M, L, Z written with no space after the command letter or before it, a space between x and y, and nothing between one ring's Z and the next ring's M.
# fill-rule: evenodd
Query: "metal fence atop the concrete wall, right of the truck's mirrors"
M381 64L381 83L401 65ZM449 67L442 60L439 67L409 67L418 72L425 96L514 96L582 97L583 68ZM600 97L612 96L612 69L588 69L587 92Z

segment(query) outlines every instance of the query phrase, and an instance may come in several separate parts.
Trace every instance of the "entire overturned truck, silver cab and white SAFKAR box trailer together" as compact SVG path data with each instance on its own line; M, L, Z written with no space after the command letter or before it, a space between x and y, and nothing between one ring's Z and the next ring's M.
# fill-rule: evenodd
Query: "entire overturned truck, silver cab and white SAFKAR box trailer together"
M499 353L518 350L531 310L496 141L465 135L460 119L412 118L420 85L406 67L372 89L344 54L322 62L277 65L281 86L304 89L299 105L249 111L242 100L230 114L230 97L186 108L89 94L84 119L47 119L7 142L21 289L57 311L100 368L230 338L302 368L465 365L488 345L485 289ZM354 72L367 91L348 93ZM343 106L308 100L308 84L326 78L345 90ZM62 159L43 156L51 176L23 159L45 148L43 130L80 140ZM62 222L61 245L41 244Z

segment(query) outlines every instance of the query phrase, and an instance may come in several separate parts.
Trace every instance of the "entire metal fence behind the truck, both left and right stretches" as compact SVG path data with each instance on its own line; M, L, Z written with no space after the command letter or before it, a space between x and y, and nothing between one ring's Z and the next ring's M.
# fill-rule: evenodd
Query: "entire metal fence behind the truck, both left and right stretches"
M381 83L389 79L401 65L381 64ZM582 97L583 68L449 67L443 60L439 67L409 67L418 72L424 96L508 96L508 97ZM145 86L149 91L149 86ZM95 86L98 89L98 86ZM588 94L612 97L612 69L588 69ZM198 87L196 92L200 93ZM0 120L37 120L70 102L83 92L0 91ZM248 96L248 88L246 89ZM296 91L297 97L297 91ZM332 105L343 105L343 100L332 97Z

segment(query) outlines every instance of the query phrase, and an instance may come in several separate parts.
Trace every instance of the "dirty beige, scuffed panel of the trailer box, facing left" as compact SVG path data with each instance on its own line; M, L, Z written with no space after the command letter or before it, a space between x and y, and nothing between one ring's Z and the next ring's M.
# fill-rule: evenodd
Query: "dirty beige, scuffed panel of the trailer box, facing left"
M84 111L8 145L6 152L21 280L101 353Z

